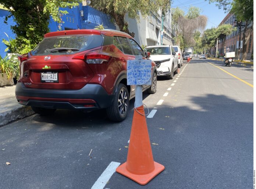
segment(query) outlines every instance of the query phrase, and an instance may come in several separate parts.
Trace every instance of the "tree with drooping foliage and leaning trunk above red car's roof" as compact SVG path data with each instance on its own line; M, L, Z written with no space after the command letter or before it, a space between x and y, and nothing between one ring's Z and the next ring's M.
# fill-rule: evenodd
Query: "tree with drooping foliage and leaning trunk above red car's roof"
M139 21L138 12L146 18L152 13L157 15L159 9L164 13L167 12L170 4L170 0L91 0L89 5L112 16L120 31L131 34L128 30L128 22L124 19L126 14L129 18Z

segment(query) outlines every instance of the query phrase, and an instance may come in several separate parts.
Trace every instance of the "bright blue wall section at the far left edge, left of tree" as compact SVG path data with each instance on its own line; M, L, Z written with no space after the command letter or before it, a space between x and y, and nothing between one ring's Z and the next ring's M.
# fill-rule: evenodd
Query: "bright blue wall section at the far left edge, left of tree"
M9 38L15 38L15 34L13 33L13 31L11 30L11 26L15 25L14 22L14 18L8 18L8 24L5 24L5 17L6 15L9 14L9 11L4 10L4 9L0 9L0 23L1 23L1 27L0 27L0 56L3 58L4 56L6 56L7 52L4 52L4 49L6 49L6 45L2 42L3 39L8 40L8 37L6 36L5 33L7 33L7 35L9 36Z

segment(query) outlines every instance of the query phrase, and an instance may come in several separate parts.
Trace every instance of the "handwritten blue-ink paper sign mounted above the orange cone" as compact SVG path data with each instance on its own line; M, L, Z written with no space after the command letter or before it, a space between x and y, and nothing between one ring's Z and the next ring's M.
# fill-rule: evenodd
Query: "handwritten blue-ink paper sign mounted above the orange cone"
M127 60L127 85L151 85L151 60Z

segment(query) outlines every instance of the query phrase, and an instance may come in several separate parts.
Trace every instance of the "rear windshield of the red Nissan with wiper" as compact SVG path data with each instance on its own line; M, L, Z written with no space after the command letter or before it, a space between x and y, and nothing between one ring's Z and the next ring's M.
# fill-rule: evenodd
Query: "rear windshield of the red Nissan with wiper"
M67 35L44 38L32 51L32 55L74 54L102 45L100 35Z

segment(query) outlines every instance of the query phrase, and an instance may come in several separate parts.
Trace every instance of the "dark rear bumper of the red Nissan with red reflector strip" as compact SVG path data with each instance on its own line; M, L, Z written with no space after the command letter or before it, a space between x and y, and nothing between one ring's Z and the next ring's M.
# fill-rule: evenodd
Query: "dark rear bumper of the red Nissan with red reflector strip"
M109 107L114 95L97 84L87 84L82 89L35 89L26 88L18 82L15 88L16 99L19 104L41 108L97 110Z

